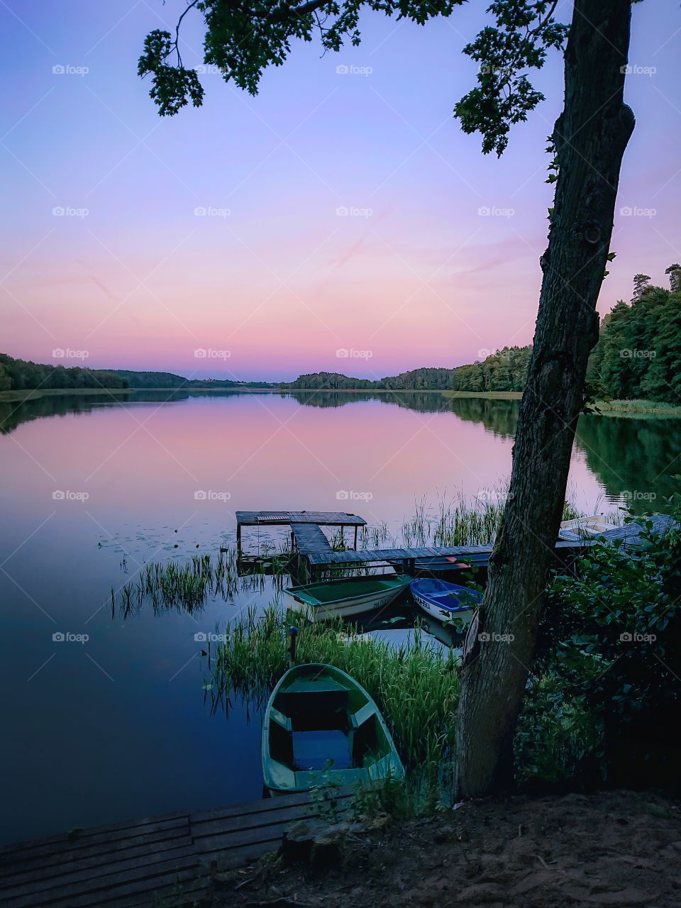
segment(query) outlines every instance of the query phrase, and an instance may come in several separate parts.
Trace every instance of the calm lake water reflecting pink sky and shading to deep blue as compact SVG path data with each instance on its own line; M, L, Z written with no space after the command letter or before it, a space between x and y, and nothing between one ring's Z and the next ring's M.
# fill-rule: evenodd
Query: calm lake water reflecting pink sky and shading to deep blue
M517 413L427 392L0 404L3 840L260 797L260 716L212 711L194 635L264 606L271 581L194 617L125 621L111 588L145 561L216 554L236 509L343 509L399 534L423 496L437 506L508 477ZM681 420L581 420L580 507L628 496L663 511L676 472Z

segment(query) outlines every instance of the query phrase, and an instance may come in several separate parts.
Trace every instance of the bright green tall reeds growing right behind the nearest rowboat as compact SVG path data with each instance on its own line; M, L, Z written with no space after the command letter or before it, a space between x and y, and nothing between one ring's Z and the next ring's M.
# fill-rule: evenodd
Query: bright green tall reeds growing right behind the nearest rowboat
M410 646L356 637L341 621L310 623L274 603L254 609L228 627L212 658L212 684L222 696L232 692L262 707L288 668L288 631L299 627L296 661L337 666L365 687L376 701L405 766L421 779L437 781L451 760L459 702L458 659L451 650L413 631Z

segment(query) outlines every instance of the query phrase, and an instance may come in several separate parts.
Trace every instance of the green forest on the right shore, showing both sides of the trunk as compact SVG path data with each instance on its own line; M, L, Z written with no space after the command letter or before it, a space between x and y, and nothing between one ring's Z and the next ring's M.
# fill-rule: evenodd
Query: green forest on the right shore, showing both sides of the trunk
M601 321L587 372L592 395L681 403L681 266L670 265L665 273L669 289L652 285L647 274L637 274L631 301L618 301ZM281 388L521 391L531 352L531 346L504 347L468 366L414 369L377 380L311 372Z

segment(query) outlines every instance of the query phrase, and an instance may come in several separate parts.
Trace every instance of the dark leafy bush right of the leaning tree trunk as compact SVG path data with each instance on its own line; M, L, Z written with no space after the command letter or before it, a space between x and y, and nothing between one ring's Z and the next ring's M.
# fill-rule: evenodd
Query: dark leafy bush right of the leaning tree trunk
M676 509L676 518L679 516ZM677 785L681 533L597 544L556 578L518 720L518 781Z

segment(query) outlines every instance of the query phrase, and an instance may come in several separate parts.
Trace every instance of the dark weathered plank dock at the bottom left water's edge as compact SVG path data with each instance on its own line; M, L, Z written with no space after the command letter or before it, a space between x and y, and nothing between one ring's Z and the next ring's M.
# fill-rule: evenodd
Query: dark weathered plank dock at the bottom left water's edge
M347 796L347 795L341 795ZM130 820L0 848L0 904L12 908L142 908L182 887L200 902L211 872L276 851L309 795ZM183 899L173 904L179 906Z

